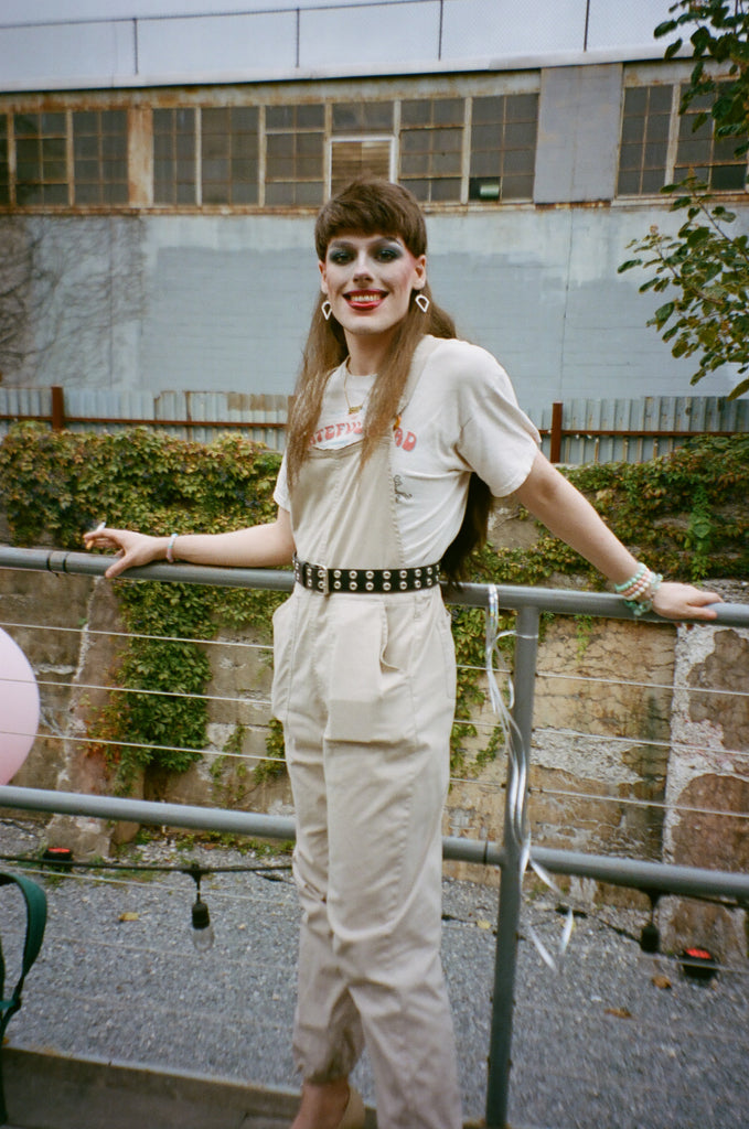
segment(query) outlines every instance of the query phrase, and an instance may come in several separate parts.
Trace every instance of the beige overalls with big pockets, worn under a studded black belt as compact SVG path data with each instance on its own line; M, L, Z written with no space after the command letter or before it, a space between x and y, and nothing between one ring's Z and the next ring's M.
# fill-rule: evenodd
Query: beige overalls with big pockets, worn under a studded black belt
M360 475L359 444L311 452L291 495L301 559L403 566L391 443ZM310 1080L337 1078L366 1043L380 1129L460 1129L439 959L455 699L441 590L323 595L297 584L273 634L303 908L297 1066Z

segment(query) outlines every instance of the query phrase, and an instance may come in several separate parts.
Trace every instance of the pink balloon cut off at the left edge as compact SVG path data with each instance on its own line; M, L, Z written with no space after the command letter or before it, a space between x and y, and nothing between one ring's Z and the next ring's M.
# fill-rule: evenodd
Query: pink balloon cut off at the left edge
M40 724L40 692L31 664L0 629L0 785L21 767Z

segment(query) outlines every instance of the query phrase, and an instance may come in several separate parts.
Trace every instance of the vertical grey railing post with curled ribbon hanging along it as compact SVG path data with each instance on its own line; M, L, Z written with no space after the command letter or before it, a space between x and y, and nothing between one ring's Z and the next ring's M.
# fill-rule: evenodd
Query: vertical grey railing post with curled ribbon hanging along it
M505 1129L507 1122L517 930L523 878L520 873L523 844L515 832L519 823L520 828L523 828L525 823L539 621L540 611L538 607L521 607L515 628L515 707L513 719L517 730L511 735L514 755L510 756L505 795L504 863L499 887L499 921L497 925L491 1032L489 1036L487 1129ZM519 803L522 805L520 821L513 809L513 797L517 795Z

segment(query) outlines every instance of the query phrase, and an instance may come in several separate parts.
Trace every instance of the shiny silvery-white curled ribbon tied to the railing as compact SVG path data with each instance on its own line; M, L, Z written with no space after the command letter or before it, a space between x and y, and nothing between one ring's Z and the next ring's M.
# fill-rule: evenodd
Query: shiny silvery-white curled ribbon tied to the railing
M491 708L494 709L497 718L499 719L499 728L502 729L502 736L507 750L508 758L508 772L507 772L507 812L510 816L510 822L512 825L512 831L515 837L515 841L521 844L520 855L520 882L522 886L523 877L528 867L538 875L541 882L552 890L557 896L563 898L563 893L552 879L551 875L538 863L534 863L531 858L531 833L525 828L525 796L526 796L526 785L528 785L528 769L525 765L525 759L521 758L519 750L521 747L521 733L515 724L511 710L515 703L515 689L513 685L510 672L505 668L504 674L507 682L507 697L510 703L506 704L503 698L502 691L499 690L499 684L497 682L497 675L495 672L495 656L498 663L502 664L502 655L499 654L499 640L505 639L507 636L515 634L514 631L499 631L499 592L496 585L489 585L489 603L486 611L486 646L485 646L485 659L486 659L486 674L489 684L489 700L491 702ZM504 665L504 664L503 664ZM517 738L517 744L513 741L513 735ZM565 926L561 931L561 937L559 938L559 944L557 945L556 955L552 955L541 938L538 936L535 930L531 925L528 926L528 934L535 945L539 955L541 956L545 964L547 964L554 972L561 971L561 962L564 955L567 951L567 945L569 944L569 938L572 936L572 930L575 919L573 916L572 908L567 910L567 917L565 920Z

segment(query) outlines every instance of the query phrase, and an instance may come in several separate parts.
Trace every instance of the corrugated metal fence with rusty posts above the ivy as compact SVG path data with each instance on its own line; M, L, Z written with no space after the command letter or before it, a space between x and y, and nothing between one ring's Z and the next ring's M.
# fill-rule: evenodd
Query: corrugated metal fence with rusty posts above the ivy
M76 431L158 427L200 443L238 429L282 450L288 404L287 396L237 392L0 387L0 438L16 420L41 420ZM749 432L749 399L572 400L545 409L540 431L554 463L642 463L694 435Z

